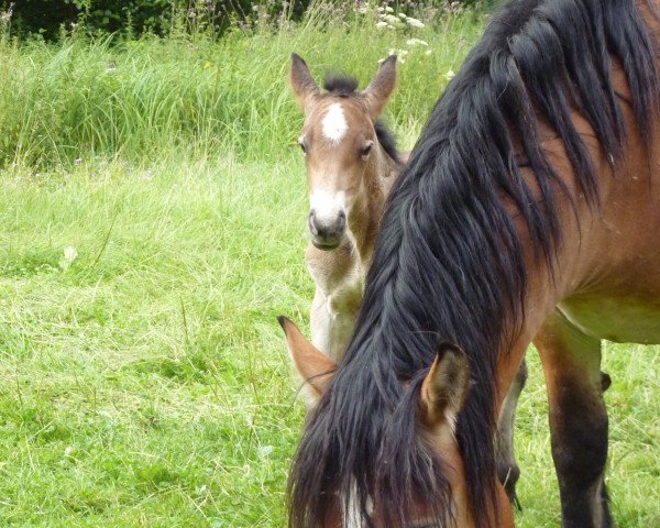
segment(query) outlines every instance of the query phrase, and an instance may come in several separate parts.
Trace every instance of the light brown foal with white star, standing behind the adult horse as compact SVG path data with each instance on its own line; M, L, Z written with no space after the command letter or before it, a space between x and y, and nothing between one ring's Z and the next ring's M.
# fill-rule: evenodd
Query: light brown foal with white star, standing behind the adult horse
M326 79L321 92L296 54L289 78L305 112L298 143L309 184L311 340L338 361L358 319L385 198L407 157L378 120L396 85L396 56L383 62L362 92L345 76Z

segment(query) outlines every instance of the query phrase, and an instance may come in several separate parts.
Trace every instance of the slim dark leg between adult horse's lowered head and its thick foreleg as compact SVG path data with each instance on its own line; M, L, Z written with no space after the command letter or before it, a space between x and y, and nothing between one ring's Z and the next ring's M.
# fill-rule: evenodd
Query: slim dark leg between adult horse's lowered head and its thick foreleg
M516 419L516 407L518 406L518 397L527 382L527 363L522 360L520 367L516 373L516 377L509 387L509 392L504 398L499 419L497 420L497 437L496 437L496 457L497 457L497 477L502 482L509 501L518 508L518 497L516 495L516 483L520 476L520 469L516 463L514 455L514 422Z

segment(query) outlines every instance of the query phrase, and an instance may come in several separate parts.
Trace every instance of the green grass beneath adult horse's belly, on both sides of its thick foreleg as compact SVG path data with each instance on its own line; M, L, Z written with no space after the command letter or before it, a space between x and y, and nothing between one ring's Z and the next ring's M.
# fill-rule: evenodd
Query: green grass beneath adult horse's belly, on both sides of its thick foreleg
M660 526L660 346L604 345L603 370L612 375L605 393L609 415L606 482L616 526ZM518 407L515 437L521 468L517 526L559 527L559 490L548 428L546 387L538 355L528 353L529 381Z

